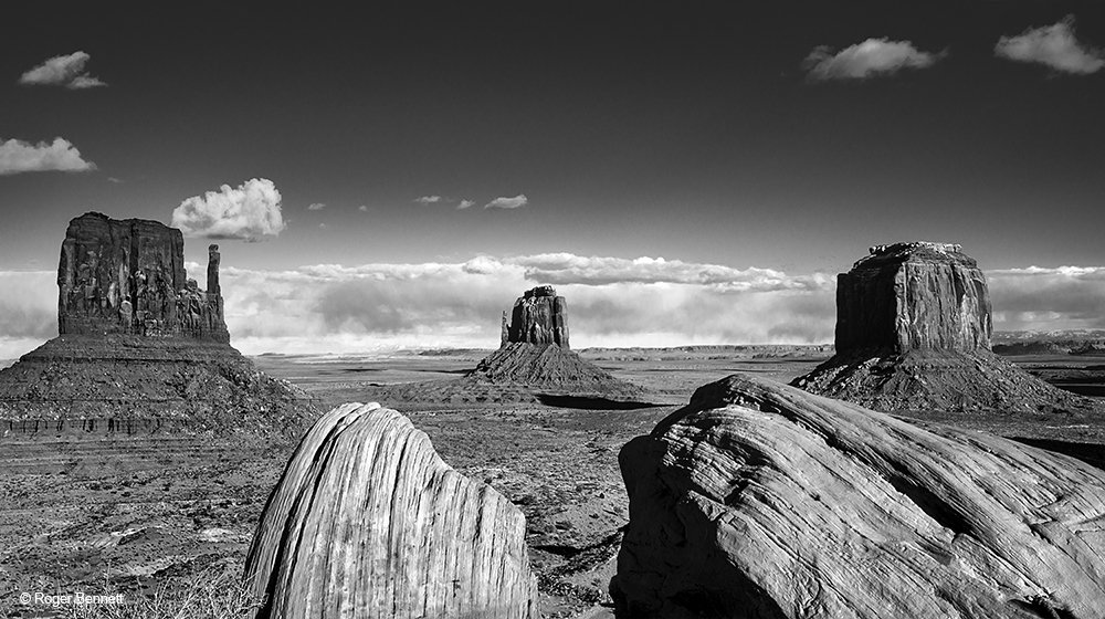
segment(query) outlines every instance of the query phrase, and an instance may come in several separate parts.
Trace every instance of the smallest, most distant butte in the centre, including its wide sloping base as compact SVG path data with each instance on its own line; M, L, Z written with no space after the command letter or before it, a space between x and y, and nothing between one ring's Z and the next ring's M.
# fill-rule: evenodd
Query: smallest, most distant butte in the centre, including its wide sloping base
M615 378L569 348L567 304L552 286L526 291L514 303L509 323L503 314L498 350L475 369L452 380L380 386L381 402L587 403L623 408L641 402L644 389Z

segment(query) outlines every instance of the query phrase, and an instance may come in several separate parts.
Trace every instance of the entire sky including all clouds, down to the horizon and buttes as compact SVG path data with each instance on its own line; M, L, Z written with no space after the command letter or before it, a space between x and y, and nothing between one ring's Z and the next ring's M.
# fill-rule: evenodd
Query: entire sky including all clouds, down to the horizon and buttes
M999 329L1105 328L1098 1L21 4L0 357L90 210L200 281L218 239L246 353L493 347L543 283L577 346L831 342L835 274L917 239Z

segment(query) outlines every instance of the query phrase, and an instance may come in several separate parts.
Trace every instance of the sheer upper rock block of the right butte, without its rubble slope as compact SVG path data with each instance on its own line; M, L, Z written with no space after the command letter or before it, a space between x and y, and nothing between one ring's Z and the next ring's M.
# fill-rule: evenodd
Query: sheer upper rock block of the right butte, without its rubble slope
M989 350L991 331L986 277L959 245L876 245L836 276L838 353Z

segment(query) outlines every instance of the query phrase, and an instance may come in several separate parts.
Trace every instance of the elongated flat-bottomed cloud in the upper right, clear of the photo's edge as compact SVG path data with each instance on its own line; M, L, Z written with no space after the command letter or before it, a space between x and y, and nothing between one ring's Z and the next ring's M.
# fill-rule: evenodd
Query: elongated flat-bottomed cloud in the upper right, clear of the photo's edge
M819 45L806 56L802 66L811 80L865 80L893 75L903 69L925 69L943 55L922 52L909 41L867 39L836 53L828 45Z

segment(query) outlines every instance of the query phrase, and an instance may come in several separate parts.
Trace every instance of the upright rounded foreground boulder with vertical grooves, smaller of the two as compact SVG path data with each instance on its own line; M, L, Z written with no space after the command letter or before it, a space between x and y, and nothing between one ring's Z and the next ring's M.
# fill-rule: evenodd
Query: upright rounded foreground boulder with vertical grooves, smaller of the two
M377 403L323 416L246 559L259 619L537 616L525 516Z

